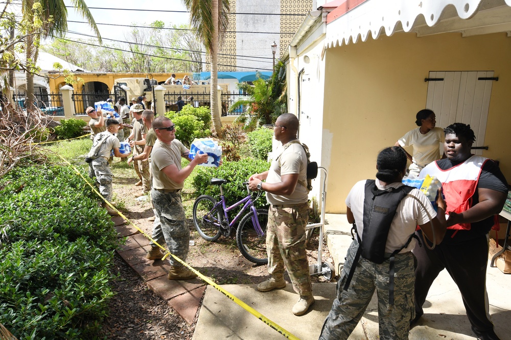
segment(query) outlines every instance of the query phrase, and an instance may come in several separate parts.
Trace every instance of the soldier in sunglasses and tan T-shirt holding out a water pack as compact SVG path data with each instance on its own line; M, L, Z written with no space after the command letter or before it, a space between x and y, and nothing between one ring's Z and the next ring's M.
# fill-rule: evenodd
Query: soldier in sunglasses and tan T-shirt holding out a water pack
M175 135L175 125L167 117L158 117L153 121L153 130L158 140L151 152L151 171L153 189L151 200L156 212L153 225L153 239L162 245L165 241L169 251L186 260L190 242L190 230L185 223L184 209L181 203L181 189L184 180L192 173L197 164L207 162L207 153L197 154L193 160L189 152L178 141ZM181 157L190 163L181 168ZM164 253L154 243L147 253L149 259L161 259ZM170 280L187 280L196 275L183 267L174 257L170 256Z

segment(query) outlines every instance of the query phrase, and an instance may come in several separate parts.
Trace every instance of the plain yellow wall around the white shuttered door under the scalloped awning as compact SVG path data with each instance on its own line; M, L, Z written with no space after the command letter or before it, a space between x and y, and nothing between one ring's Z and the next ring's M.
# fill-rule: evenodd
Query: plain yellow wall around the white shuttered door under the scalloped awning
M329 48L323 136L332 135L326 211L344 213L358 180L375 178L378 152L415 128L426 106L429 71L494 70L483 156L500 161L511 181L511 39L505 33L416 37L398 33ZM442 126L445 127L445 126Z

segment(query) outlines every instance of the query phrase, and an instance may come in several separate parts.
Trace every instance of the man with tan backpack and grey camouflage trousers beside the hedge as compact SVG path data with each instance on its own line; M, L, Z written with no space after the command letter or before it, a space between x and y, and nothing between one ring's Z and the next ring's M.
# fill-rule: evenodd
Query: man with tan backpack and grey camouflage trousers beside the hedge
M89 165L94 171L96 181L99 183L99 192L101 196L103 196L109 202L111 202L113 195L113 175L110 171L110 166L108 165L111 151L113 150L115 157L119 158L129 157L131 155L131 152L121 153L121 151L119 151L121 143L117 137L113 136L113 134L117 134L120 127L121 126L119 125L119 121L117 119L107 119L106 131L96 135L94 138L94 143L92 143L91 151L88 154L88 157L91 159ZM109 215L119 215L106 202L103 202L102 205L104 208L106 208Z

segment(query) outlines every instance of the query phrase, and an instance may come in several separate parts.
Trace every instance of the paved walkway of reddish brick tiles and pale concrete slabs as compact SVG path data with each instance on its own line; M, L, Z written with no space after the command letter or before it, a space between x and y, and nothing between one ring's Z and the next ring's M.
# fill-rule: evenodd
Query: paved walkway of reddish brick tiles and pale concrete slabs
M115 221L115 219L114 219ZM121 224L117 221L117 224ZM188 323L194 321L205 290L194 340L202 339L280 339L285 338L270 326L254 317L228 297L198 280L171 281L167 279L167 261L145 259L149 241L135 228L119 225L118 231L128 236L120 255L147 282L148 287L165 299ZM336 274L342 268L347 247L351 243L351 225L344 215L327 214L325 233L327 244L334 258ZM498 268L488 268L487 291L490 314L495 331L502 340L511 338L511 275ZM316 302L305 316L296 317L291 308L297 295L288 283L283 290L260 293L254 285L222 285L229 294L236 296L278 326L302 340L317 339L324 319L335 298L334 283L315 283L313 292ZM410 331L415 339L475 339L465 315L461 296L446 271L435 280L425 304L425 314ZM378 339L378 311L376 296L369 304L364 317L350 339Z

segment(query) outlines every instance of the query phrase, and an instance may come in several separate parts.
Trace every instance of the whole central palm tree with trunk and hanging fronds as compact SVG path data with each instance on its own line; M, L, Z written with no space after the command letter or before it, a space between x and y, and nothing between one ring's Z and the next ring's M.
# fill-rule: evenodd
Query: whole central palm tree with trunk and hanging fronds
M218 42L227 31L229 23L228 0L182 0L190 11L190 24L204 44L211 57L211 120L213 135L219 135L222 129L217 97Z

